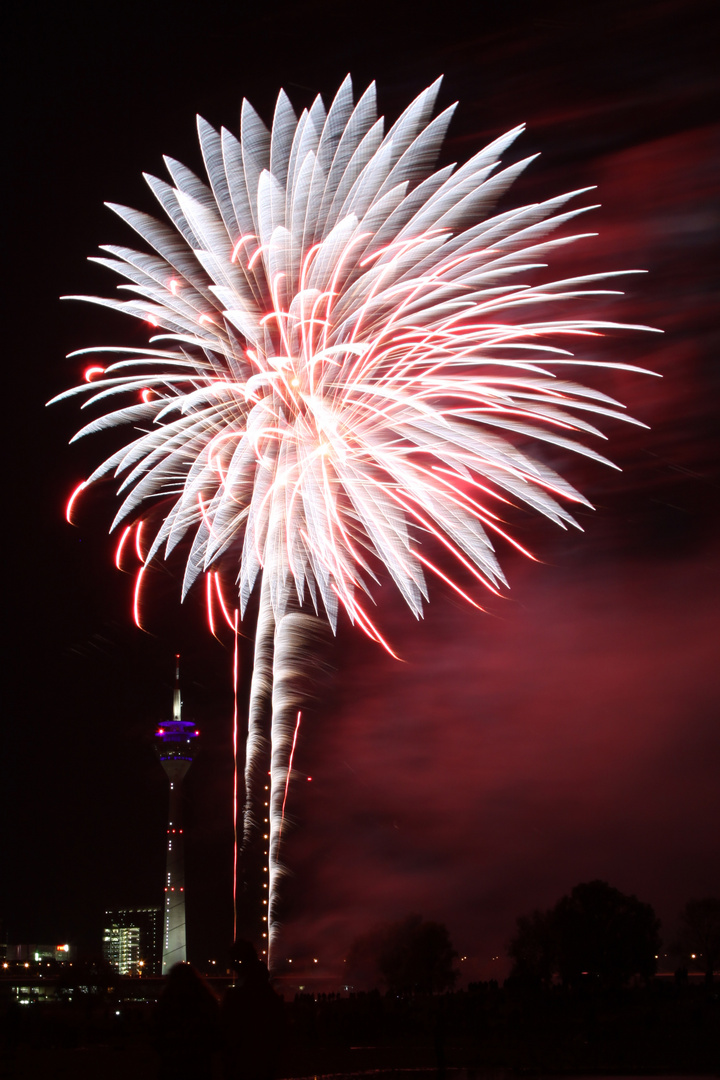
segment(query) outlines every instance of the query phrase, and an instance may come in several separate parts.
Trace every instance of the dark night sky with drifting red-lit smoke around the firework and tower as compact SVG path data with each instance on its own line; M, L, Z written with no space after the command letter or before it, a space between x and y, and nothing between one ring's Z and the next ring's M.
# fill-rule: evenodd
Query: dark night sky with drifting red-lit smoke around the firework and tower
M478 595L487 613L436 588L418 623L385 586L379 622L402 663L341 625L296 757L281 951L339 970L353 937L417 912L448 924L467 977L487 977L505 970L491 958L515 918L579 881L652 903L666 939L684 901L720 892L716 11L11 5L6 940L97 947L106 907L161 902L166 781L152 732L180 651L203 745L187 782L190 958L203 967L229 943L230 642L204 629L202 597L179 605L178 563L153 575L151 633L133 625L109 487L85 498L77 527L64 521L117 437L67 447L77 408L44 408L81 374L65 356L145 338L58 297L112 292L85 258L131 233L103 203L154 214L140 174L164 175L162 153L200 171L196 112L236 131L242 97L269 121L280 86L300 109L348 71L356 92L378 80L390 119L445 73L439 106L460 108L444 163L526 121L515 160L542 157L506 206L597 184L602 208L585 224L599 235L555 270L649 271L595 310L664 335L613 334L597 357L662 379L582 376L649 430L604 426L620 473L553 458L597 509L581 514L584 535L514 514L539 562L499 549L512 590ZM244 640L245 687L248 663Z

